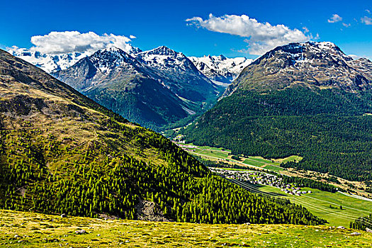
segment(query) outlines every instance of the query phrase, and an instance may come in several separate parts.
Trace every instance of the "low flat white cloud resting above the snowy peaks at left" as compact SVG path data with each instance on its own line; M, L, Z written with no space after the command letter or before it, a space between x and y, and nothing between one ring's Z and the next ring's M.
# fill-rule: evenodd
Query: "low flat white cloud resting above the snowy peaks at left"
M103 34L94 32L79 33L78 31L50 32L47 35L36 35L31 37L33 47L42 53L61 54L69 52L96 52L108 47L119 47L129 51L132 46L130 38L123 35Z

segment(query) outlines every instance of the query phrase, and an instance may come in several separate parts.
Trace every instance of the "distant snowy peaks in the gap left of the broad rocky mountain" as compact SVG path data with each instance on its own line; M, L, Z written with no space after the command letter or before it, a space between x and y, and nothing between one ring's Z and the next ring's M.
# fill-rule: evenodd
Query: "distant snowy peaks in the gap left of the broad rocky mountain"
M227 58L223 55L188 58L205 76L215 81L216 84L225 86L230 84L245 67L253 62L252 59L245 57Z

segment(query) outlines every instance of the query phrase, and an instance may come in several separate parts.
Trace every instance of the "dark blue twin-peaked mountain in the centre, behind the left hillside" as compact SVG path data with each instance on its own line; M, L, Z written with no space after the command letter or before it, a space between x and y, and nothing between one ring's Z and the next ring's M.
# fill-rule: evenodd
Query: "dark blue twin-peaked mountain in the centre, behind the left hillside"
M157 130L210 108L220 87L181 52L98 50L55 76L129 120Z

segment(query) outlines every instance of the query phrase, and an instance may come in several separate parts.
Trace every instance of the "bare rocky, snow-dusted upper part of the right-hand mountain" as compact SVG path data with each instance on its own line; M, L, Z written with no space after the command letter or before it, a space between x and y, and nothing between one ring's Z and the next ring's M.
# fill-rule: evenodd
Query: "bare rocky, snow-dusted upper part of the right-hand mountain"
M237 89L272 91L298 85L354 92L372 89L371 74L371 61L353 60L334 43L291 43L249 64L224 96Z

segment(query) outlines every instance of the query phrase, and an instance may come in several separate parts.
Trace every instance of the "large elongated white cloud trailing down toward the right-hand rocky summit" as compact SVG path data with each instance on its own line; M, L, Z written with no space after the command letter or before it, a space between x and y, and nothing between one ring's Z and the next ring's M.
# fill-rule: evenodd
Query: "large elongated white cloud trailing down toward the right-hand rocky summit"
M215 17L210 14L208 19L201 17L186 19L188 26L206 28L207 30L228 33L247 37L244 40L249 45L251 55L262 55L278 45L285 45L293 42L305 42L311 39L311 35L305 35L298 29L291 29L282 24L272 26L270 23L259 23L249 16L225 15Z

